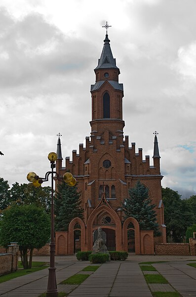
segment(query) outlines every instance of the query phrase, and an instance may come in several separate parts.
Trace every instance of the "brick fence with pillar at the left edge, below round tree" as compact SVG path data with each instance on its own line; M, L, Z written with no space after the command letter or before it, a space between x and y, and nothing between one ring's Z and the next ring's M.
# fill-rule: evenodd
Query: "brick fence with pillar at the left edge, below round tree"
M0 275L7 274L18 269L18 249L17 242L8 245L7 253L0 253Z

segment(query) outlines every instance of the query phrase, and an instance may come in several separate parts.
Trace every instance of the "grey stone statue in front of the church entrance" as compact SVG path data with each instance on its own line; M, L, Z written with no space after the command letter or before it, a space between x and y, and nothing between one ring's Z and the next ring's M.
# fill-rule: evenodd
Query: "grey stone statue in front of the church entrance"
M106 253L109 254L109 261L110 261L110 253L106 246L106 233L102 231L101 227L98 227L97 230L93 232L93 251L92 254L95 253Z

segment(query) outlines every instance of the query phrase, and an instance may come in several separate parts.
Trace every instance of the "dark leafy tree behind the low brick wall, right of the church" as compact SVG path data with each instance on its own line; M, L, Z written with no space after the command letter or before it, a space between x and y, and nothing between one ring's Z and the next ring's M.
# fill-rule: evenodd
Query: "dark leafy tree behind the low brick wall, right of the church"
M181 199L178 191L166 187L162 188L162 200L167 237L172 237L174 242L182 242L187 227L194 223L189 199Z

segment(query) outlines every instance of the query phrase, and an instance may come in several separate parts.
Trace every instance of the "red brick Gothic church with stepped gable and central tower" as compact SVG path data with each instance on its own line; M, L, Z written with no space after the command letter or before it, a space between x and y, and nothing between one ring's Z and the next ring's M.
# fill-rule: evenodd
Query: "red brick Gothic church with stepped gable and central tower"
M109 250L154 254L154 243L166 242L157 135L154 165L150 166L150 156L143 159L142 148L136 152L135 143L129 146L128 136L123 136L123 84L118 82L120 70L113 58L108 34L94 71L95 84L90 90L90 137L86 137L85 147L79 144L78 154L73 150L72 161L66 157L65 167L58 139L56 171L60 177L70 171L77 179L84 219L73 219L68 232L56 232L56 254L73 254L77 247L82 251L92 250L92 234L98 227L106 232ZM128 197L128 189L134 187L138 179L149 188L150 197L156 204L160 237L154 238L153 231L140 230L134 218L123 220L121 205Z

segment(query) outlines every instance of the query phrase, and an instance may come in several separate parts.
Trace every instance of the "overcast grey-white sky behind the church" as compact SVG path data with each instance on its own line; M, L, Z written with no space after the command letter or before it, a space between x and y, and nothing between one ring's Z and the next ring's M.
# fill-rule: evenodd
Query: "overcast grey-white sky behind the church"
M0 177L43 176L90 134L90 85L105 29L124 85L124 135L163 187L196 194L196 0L0 0Z

